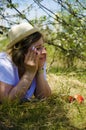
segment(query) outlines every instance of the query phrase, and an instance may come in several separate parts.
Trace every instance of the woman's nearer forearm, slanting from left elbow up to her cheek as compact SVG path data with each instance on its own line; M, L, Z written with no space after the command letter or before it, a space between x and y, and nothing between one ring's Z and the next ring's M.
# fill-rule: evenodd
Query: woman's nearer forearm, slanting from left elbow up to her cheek
M25 74L22 76L19 83L10 90L8 98L10 100L14 100L15 98L23 98L26 91L30 87L33 78L35 76L35 73L29 73L29 71L25 72Z

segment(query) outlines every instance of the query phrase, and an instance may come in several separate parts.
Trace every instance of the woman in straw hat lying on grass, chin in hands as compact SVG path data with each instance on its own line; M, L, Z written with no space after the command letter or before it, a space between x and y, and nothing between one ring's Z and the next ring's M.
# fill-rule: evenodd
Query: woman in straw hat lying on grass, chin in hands
M46 80L46 49L38 28L21 23L8 33L7 52L0 53L0 101L51 95Z

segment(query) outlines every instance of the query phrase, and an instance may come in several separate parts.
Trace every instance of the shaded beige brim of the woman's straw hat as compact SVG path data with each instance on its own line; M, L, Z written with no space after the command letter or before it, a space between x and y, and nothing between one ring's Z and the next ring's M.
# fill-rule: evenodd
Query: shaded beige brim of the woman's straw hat
M39 32L38 28L33 28L27 32L25 32L23 35L18 36L15 40L11 41L8 46L7 49L10 49L11 47L13 47L16 43L18 43L19 41L23 40L25 37L35 33L35 32Z

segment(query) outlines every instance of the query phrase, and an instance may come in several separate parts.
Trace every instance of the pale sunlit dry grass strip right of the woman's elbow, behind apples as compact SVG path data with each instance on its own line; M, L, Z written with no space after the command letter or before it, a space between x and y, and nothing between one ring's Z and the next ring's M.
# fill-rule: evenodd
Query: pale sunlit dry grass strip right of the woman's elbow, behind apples
M86 98L86 83L74 76L49 74L47 76L52 92L60 94L81 94Z

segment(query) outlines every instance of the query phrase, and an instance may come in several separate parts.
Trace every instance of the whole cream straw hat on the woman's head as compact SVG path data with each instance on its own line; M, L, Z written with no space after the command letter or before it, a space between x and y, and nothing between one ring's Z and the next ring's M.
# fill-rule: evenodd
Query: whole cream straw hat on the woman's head
M21 23L18 25L14 25L8 33L10 43L8 44L7 48L11 48L13 45L15 45L16 43L18 43L25 37L27 37L35 32L39 32L39 29L33 27L29 23Z

